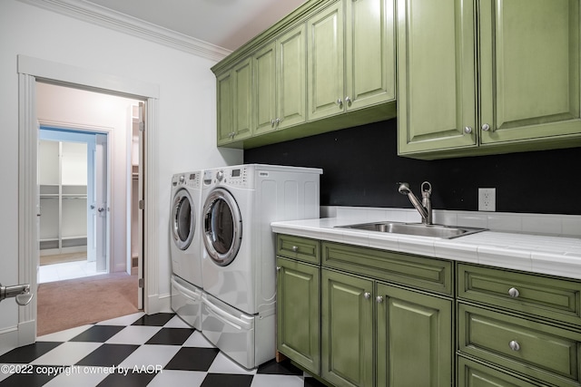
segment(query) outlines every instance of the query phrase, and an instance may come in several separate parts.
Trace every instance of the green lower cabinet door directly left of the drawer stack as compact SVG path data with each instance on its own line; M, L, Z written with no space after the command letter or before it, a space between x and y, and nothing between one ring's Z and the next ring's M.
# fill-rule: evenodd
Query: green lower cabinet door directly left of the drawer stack
M378 387L449 386L452 301L378 284Z

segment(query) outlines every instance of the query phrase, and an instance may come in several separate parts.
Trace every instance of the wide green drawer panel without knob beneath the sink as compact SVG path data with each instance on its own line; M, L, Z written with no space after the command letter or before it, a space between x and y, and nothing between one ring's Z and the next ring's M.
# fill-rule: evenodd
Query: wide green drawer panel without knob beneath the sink
M323 266L452 295L451 261L332 242L323 242L321 258Z

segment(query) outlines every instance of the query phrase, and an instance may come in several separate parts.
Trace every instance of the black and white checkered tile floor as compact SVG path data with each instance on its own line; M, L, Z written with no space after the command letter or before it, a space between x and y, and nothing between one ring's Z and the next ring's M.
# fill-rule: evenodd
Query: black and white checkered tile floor
M0 355L0 386L322 386L291 363L246 370L175 314L129 314Z

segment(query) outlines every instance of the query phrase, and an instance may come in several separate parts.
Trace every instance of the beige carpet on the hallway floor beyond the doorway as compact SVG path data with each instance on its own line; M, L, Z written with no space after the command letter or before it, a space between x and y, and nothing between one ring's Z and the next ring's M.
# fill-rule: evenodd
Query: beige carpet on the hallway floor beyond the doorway
M37 335L138 312L137 276L112 273L38 285Z

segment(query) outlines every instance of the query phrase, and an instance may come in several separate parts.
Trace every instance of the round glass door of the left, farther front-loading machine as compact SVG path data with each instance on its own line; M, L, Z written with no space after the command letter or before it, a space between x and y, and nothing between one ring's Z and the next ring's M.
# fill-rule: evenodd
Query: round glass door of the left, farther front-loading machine
M190 192L187 189L180 189L173 197L171 228L173 242L182 250L192 243L196 224L195 215Z

